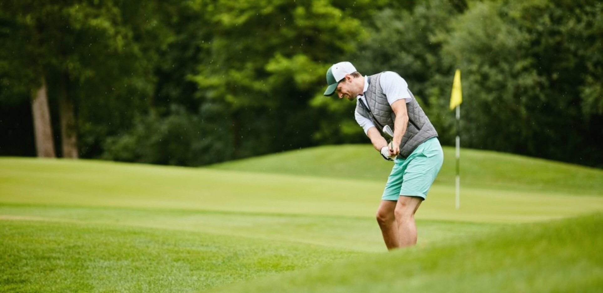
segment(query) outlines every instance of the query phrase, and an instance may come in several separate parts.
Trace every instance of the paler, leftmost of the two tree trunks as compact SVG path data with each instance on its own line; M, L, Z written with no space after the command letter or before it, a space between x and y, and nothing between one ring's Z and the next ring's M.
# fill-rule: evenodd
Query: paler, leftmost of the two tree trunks
M48 95L46 93L46 78L42 75L42 86L33 94L31 111L34 118L34 132L36 133L36 150L38 157L56 157L54 140L52 139L52 125L50 110L48 109Z

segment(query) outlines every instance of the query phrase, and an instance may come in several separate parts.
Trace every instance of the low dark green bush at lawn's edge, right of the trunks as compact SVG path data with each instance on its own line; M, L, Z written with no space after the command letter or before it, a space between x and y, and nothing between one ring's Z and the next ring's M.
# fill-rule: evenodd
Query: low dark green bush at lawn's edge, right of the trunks
M201 115L172 106L169 115L139 118L125 134L107 139L104 159L160 165L198 166L232 157L229 125L219 123L224 109L206 104Z

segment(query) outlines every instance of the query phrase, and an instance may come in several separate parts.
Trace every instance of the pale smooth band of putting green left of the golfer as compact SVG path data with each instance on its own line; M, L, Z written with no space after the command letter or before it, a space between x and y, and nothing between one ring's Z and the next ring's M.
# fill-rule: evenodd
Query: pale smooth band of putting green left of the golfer
M322 215L366 215L369 205L358 203L382 190L344 179L36 159L0 159L0 187L2 203Z

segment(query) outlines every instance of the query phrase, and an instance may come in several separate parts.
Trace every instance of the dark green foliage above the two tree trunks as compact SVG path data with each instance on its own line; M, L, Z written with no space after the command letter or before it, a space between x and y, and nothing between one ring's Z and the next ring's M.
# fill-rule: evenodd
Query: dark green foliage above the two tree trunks
M2 19L13 34L2 50L11 57L2 74L11 77L17 72L8 69L24 69L29 77L18 78L24 90L40 83L40 73L66 74L74 84L96 86L87 93L110 89L114 75L137 69L133 61L142 57L140 43L134 42L134 31L124 20L131 17L123 16L126 9L119 3L9 1L5 8ZM122 73L122 77L128 75Z

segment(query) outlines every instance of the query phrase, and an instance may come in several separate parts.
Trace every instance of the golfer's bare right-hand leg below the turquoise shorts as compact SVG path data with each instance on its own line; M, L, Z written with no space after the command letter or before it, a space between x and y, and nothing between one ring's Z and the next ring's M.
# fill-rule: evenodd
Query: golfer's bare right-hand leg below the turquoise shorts
M422 201L423 199L420 197L400 196L398 199L394 215L396 215L400 247L417 244L417 226L414 214Z

